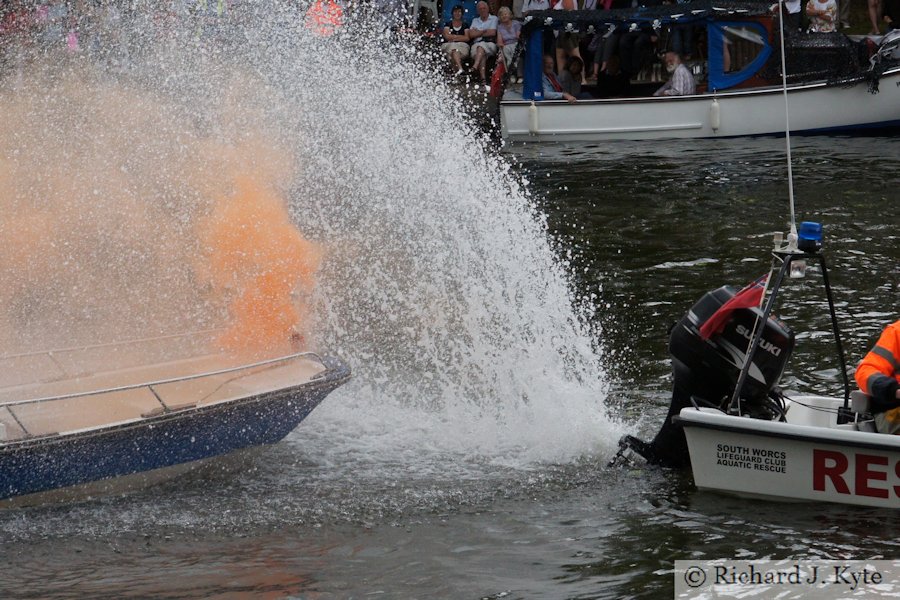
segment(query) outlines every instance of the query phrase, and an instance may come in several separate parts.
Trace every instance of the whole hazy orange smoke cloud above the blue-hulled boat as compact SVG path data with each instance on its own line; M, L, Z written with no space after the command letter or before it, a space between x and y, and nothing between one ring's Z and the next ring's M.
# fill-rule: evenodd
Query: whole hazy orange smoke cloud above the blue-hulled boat
M320 252L279 194L298 164L265 88L235 76L200 118L89 64L35 65L0 85L0 355L211 329L291 349Z

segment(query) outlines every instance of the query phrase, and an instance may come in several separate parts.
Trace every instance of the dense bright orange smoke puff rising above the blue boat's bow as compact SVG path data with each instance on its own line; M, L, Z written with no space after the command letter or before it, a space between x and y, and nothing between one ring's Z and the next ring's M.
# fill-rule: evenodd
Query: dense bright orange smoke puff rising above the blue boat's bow
M201 274L228 298L232 322L223 346L257 354L290 350L303 318L297 296L312 288L321 253L291 223L284 201L264 182L239 175L199 237Z

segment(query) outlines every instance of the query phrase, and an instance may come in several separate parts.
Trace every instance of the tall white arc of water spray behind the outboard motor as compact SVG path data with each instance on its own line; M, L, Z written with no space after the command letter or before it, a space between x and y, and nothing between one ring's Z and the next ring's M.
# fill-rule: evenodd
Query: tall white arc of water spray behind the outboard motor
M377 16L348 14L322 38L294 4L239 10L239 27L213 33L187 17L158 27L131 15L119 46L68 60L170 107L164 122L138 108L113 134L131 136L151 165L183 158L150 167L165 197L190 200L183 218L208 207L196 206L203 189L173 189L173 169L191 182L212 174L203 181L215 186L222 166L195 138L284 149L241 166L288 169L277 179L291 216L322 253L308 341L355 373L292 442L326 462L375 456L397 473L460 457L524 465L608 452L620 426L604 411L599 332L527 191L467 125L465 97ZM165 143L153 144L145 132L159 130Z

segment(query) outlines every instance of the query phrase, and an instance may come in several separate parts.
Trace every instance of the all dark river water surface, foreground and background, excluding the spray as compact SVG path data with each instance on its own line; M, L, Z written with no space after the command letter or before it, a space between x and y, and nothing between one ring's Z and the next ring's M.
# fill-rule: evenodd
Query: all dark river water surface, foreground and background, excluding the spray
M606 404L645 436L667 408L670 325L768 268L783 153L777 139L507 151L576 295L596 294ZM823 223L854 363L900 308L900 140L800 139L794 158L798 221ZM823 299L812 273L786 291L787 388L840 390ZM448 470L331 446L313 420L239 475L0 514L0 596L650 599L671 597L676 559L900 552L892 512L701 493L681 473L608 470L602 451Z

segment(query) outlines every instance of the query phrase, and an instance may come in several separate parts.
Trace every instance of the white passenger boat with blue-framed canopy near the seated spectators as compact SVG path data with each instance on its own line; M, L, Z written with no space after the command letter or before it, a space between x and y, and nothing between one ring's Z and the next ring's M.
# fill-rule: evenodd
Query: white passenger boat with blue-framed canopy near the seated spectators
M652 8L546 11L523 27L521 91L500 103L502 136L511 141L600 141L783 135L784 103L778 20L771 2L696 0ZM625 95L568 103L545 100L544 38L557 30L629 35L645 30L664 40L675 26L705 31L705 58L689 63L691 96L653 97L662 82L632 78ZM791 131L820 134L900 126L900 33L873 42L840 33L793 34L785 42ZM661 42L661 49L665 43ZM590 60L590 59L587 59Z

